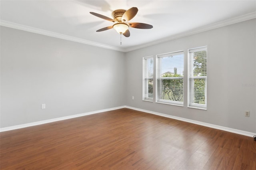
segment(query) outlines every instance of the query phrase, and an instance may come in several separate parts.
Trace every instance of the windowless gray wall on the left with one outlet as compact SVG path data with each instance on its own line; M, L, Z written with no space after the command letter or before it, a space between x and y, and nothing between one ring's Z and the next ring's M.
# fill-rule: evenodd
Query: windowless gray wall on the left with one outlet
M0 34L1 128L125 105L124 53L2 26Z

